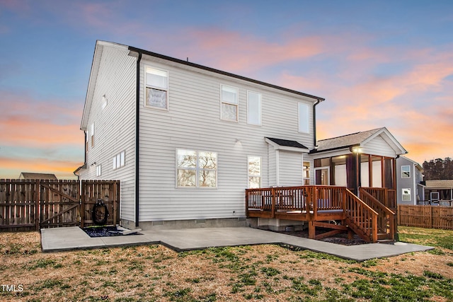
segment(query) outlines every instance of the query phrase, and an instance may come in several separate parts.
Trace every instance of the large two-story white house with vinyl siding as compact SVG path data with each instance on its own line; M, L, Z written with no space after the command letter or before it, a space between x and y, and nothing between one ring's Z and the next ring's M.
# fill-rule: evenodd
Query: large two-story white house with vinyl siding
M246 225L246 188L313 184L323 100L98 41L75 173L121 180L124 226Z

